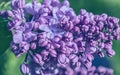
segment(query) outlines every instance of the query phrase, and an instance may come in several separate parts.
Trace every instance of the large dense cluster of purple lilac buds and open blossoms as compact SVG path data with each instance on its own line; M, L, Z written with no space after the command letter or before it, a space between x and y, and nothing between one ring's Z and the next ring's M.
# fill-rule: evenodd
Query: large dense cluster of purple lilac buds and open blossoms
M78 15L69 1L12 0L8 17L11 49L19 57L27 53L21 72L28 75L112 75L111 69L92 66L94 55L112 57L112 40L120 39L119 19L81 9Z

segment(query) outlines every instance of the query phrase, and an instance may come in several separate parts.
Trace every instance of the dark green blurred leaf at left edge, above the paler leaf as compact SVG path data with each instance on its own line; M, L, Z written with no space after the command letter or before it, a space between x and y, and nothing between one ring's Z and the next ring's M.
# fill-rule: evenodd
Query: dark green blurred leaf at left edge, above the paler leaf
M10 45L11 32L7 28L7 19L0 18L0 55L3 54Z

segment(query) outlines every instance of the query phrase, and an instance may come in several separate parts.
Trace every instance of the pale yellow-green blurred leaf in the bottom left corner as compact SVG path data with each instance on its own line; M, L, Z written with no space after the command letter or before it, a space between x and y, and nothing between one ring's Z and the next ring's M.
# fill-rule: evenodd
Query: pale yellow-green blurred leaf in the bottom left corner
M22 75L20 72L20 65L24 61L25 55L20 58L8 49L2 56L0 56L0 75Z

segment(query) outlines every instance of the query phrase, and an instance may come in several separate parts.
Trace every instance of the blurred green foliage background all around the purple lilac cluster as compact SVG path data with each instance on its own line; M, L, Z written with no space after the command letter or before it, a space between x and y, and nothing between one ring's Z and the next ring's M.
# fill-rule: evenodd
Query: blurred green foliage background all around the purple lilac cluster
M29 1L29 0L27 0ZM120 0L69 0L71 7L76 13L80 9L86 9L94 14L107 13L109 16L120 18ZM10 9L8 0L0 0L0 10ZM6 4L7 3L7 4ZM19 71L20 64L23 62L25 55L16 58L9 49L11 33L7 30L7 20L0 18L0 75L21 75ZM107 61L100 59L95 63L110 64L114 69L115 75L120 75L120 41L113 41L113 49L116 55L112 58L106 57ZM97 58L99 59L99 58ZM96 59L96 60L97 60Z

